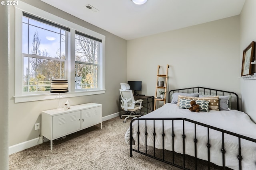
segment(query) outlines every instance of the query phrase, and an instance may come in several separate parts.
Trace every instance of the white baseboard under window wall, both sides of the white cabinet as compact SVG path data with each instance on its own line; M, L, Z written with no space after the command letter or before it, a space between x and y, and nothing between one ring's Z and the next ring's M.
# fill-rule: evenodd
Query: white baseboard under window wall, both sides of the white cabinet
M118 116L119 116L119 112L113 113L111 115L107 115L107 116L102 117L102 121L106 121L106 120L109 120L109 119L112 119L112 118L118 117ZM39 145L41 143L43 143L43 140L42 140L41 137L38 137L38 138L35 138L35 139L31 139L29 141L25 141L25 142L22 142L22 143L18 143L16 145L12 145L12 146L9 147L9 155L13 154L13 153L16 153L16 152L19 152L19 151L24 150L24 149L34 147L34 146Z

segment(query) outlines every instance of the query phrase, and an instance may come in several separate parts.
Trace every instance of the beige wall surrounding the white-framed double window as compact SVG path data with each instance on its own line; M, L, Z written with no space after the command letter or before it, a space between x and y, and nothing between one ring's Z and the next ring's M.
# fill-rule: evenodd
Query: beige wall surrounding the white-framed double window
M105 94L74 97L68 100L71 106L89 102L102 104L103 117L118 113L120 83L126 81L127 41L40 0L22 1L106 36L104 71ZM7 26L8 24L6 24L6 27ZM8 66L10 72L10 86L9 97L5 98L5 100L9 101L9 146L38 138L38 131L34 130L34 124L41 123L41 111L54 109L56 107L55 100L14 103L14 34L14 7L10 7L10 47L12 47L10 51L10 64ZM0 41L6 43L2 38Z

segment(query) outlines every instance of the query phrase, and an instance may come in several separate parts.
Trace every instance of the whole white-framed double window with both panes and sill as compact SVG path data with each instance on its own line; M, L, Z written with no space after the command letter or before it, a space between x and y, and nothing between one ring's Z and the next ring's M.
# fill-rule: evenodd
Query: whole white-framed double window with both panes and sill
M64 97L104 94L105 36L30 6L15 7L15 102L54 99L52 79L68 79Z

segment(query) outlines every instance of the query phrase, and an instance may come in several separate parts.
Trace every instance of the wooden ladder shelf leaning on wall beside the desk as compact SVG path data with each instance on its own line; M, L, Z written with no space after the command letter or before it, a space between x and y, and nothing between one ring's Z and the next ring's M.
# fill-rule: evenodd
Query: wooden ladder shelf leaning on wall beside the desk
M166 89L167 89L167 78L168 78L169 65L167 64L167 66L166 66L166 74L159 74L159 69L160 69L160 65L158 65L158 67L157 67L156 94L155 94L155 99L154 99L154 110L156 109L156 102L157 101L164 101L164 104L165 104L165 101L166 101ZM158 86L159 85L158 84L159 78L165 78L164 86ZM158 89L160 89L160 91L164 91L163 98L157 97L157 92L159 92Z

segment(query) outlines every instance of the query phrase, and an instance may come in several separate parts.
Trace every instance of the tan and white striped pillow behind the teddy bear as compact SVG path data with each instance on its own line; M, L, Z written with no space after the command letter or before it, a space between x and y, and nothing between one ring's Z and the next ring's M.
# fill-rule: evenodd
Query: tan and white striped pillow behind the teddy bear
M189 99L189 100L204 100L209 102L209 110L216 110L219 111L219 96L211 96L211 97L204 97L204 98L195 98L195 97L187 97L187 96L178 96L178 103L177 105L180 106L180 99Z

